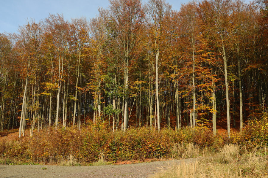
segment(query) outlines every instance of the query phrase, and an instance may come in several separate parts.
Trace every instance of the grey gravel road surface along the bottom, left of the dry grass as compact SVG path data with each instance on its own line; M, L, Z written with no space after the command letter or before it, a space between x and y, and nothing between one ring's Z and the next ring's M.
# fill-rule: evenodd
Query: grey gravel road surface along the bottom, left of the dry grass
M194 158L187 159L188 162L192 162L193 160ZM145 178L150 177L150 175L158 172L159 168L165 168L165 166L169 166L174 162L180 163L180 160L80 167L44 165L0 165L0 178ZM43 167L46 167L47 169L43 170Z

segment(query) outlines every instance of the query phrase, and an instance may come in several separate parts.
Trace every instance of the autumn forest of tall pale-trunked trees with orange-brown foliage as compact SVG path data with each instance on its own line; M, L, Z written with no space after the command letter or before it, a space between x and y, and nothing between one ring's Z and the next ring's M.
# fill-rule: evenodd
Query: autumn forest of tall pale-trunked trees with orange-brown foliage
M267 1L110 0L0 34L0 130L231 127L267 112ZM34 18L34 17L32 17ZM210 124L211 123L211 124ZM239 124L237 124L239 123ZM35 132L37 130L37 132Z

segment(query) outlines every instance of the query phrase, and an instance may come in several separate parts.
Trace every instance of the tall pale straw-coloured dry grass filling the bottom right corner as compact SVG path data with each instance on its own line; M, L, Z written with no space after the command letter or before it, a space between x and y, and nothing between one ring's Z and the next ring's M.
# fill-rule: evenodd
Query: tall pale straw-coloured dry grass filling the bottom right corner
M182 160L180 164L174 162L167 170L161 169L153 178L268 177L267 160L267 157L255 152L239 155L239 146L230 144L210 158L198 158L191 163L187 160Z

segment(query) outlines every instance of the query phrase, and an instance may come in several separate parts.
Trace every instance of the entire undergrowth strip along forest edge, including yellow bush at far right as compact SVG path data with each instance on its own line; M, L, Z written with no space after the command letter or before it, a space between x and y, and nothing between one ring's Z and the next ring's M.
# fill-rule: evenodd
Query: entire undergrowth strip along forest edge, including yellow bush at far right
M268 155L268 117L250 121L231 138L216 135L206 127L185 127L161 131L129 128L126 132L111 132L105 125L81 126L80 130L58 128L35 132L13 141L0 141L0 164L9 160L62 166L105 165L117 161L169 158L194 158L205 152L221 152L225 144L238 144L244 150L263 150ZM224 147L223 147L224 148ZM228 148L226 148L228 149ZM229 158L226 158L228 162ZM11 161L12 162L12 161ZM15 163L15 161L13 161Z

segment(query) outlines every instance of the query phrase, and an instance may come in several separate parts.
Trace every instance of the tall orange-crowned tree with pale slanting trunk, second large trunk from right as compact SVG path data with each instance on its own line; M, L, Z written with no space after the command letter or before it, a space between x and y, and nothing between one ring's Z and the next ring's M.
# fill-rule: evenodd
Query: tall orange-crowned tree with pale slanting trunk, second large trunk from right
M225 94L226 94L226 110L227 110L227 131L230 137L230 103L229 103L229 89L228 89L228 59L231 56L230 49L230 0L211 0L203 1L200 8L204 16L207 18L206 22L209 25L210 32L215 39L215 46L224 62L224 76L225 76Z

